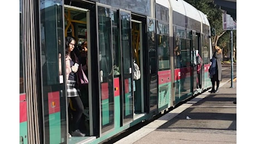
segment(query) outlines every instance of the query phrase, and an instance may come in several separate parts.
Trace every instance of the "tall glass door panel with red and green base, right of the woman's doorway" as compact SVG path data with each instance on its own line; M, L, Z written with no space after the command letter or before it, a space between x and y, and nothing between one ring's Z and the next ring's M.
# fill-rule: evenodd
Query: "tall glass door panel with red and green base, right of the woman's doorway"
M114 85L113 75L111 75L113 67L111 9L98 6L97 13L99 29L101 133L104 133L114 128Z

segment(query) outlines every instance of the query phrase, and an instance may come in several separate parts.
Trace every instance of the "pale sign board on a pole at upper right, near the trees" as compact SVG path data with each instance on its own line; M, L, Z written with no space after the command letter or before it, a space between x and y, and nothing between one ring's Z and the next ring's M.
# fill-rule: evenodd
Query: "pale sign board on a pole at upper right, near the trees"
M233 18L227 14L227 12L222 14L223 30L237 30L237 23L234 22Z

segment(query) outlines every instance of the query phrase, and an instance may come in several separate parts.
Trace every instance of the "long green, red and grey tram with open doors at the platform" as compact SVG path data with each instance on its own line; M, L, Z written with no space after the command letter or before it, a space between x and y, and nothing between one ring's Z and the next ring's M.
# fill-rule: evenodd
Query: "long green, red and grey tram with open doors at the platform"
M20 143L101 143L211 86L210 24L185 1L20 0L19 6ZM85 137L68 137L68 36L78 54L87 42L89 83L80 88Z

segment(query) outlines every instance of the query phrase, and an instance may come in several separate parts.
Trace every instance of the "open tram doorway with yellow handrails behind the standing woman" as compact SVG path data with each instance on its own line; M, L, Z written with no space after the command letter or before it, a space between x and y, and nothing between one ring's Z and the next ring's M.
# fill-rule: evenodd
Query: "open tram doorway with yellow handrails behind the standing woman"
M89 80L89 84L91 81L90 71L90 13L87 9L67 6L65 5L64 17L65 17L65 38L66 37L74 37L76 40L76 45L73 51L76 53L80 64L83 68L87 68L85 70L85 74ZM82 49L82 44L87 42L87 52ZM82 115L82 122L80 131L85 133L87 136L90 135L92 130L92 114L90 109L91 97L90 95L90 86L89 84L85 84L80 86L81 93L81 101L83 107L85 108ZM75 111L75 108L72 105L72 101L70 101L68 112ZM90 119L91 118L91 119ZM71 122L68 125L69 129L71 129Z

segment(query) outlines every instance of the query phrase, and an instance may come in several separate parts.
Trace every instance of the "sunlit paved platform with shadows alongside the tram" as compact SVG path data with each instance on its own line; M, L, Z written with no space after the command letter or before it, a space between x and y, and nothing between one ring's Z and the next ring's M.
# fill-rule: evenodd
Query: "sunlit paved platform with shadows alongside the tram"
M237 143L237 81L220 83L116 143ZM188 117L188 119L187 119Z

